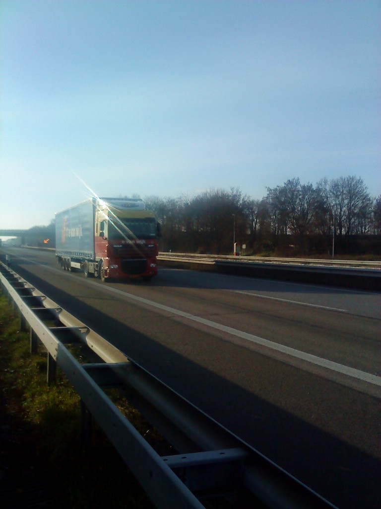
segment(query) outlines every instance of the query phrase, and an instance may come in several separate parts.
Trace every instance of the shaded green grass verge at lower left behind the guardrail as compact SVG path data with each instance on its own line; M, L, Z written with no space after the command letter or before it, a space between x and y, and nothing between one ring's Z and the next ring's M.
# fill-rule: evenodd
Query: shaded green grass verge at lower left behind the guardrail
M0 294L0 506L151 509L152 503L94 423L80 442L78 394L57 370L46 383L46 351L29 353L29 334ZM32 505L35 504L35 505Z

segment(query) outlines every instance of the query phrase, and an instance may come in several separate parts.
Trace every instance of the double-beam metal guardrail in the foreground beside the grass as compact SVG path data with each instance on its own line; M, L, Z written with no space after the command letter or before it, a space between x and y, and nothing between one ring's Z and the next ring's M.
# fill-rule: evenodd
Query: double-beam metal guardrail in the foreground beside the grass
M156 507L202 509L200 495L243 492L265 507L335 507L258 451L232 435L179 394L146 372L54 301L0 262L1 286L30 326L31 351L37 338L48 351L48 383L56 365L81 398L83 418L95 418ZM47 323L54 323L49 326ZM80 364L66 348L80 342L99 361ZM109 400L102 387L128 391L143 415L182 454L161 457Z

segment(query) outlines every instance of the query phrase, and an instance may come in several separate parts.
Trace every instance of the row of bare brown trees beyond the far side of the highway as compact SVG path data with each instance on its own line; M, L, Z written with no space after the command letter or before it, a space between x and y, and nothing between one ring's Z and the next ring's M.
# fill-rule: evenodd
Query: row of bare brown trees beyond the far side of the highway
M253 200L239 188L210 189L177 199L146 196L162 223L163 250L232 253L380 252L381 195L372 197L356 176L301 184L299 178ZM378 237L377 237L378 236Z

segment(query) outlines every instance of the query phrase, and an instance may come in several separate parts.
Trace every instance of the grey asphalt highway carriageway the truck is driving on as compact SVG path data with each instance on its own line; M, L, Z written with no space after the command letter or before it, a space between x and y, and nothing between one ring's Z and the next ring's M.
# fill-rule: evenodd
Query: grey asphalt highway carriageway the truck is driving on
M86 279L54 254L12 268L340 509L381 501L381 294L160 268Z

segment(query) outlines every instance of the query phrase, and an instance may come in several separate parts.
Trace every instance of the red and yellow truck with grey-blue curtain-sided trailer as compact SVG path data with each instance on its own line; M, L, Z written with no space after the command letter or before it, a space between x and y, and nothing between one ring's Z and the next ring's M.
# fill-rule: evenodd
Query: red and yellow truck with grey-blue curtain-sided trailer
M64 270L102 281L157 275L160 223L143 200L92 197L57 212L55 231Z

